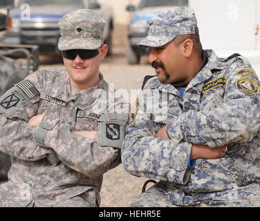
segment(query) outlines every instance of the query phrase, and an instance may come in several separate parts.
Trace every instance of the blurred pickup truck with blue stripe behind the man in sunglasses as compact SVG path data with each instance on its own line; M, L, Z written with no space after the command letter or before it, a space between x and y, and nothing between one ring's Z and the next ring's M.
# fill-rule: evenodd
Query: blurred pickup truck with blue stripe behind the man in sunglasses
M10 10L12 28L3 37L3 43L38 45L40 52L55 52L60 36L59 19L79 8L95 10L106 19L104 39L111 54L113 9L96 0L19 0Z

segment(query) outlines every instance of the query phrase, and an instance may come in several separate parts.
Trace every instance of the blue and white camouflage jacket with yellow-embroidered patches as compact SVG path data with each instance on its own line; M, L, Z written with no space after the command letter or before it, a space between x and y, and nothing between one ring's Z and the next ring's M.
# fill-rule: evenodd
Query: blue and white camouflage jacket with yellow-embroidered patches
M251 184L257 184L257 193L258 77L238 54L220 59L213 50L205 52L209 61L189 83L184 96L171 84L149 81L124 133L122 164L133 175L161 180L190 195ZM158 99L153 100L156 92ZM155 137L165 125L170 140ZM211 148L228 144L228 153L216 160L198 159L194 169L188 169L192 144Z

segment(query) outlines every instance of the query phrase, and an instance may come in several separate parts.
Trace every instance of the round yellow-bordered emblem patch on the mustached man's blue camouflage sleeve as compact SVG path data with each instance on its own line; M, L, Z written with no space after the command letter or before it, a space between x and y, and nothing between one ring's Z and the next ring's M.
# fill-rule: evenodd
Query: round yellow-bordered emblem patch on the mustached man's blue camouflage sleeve
M250 77L240 77L236 80L236 88L238 88L245 95L257 95L259 93L259 86Z

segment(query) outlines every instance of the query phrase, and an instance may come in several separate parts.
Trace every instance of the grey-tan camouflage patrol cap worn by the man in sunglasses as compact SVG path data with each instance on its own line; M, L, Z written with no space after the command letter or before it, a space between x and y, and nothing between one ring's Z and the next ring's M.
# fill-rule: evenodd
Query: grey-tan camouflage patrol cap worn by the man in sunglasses
M105 23L104 18L89 9L68 12L59 20L59 50L100 48Z

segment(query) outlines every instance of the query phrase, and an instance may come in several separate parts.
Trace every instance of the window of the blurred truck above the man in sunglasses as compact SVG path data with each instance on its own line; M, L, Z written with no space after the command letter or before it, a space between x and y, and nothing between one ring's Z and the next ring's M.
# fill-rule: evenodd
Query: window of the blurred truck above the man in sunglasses
M18 3L18 7L21 4L26 3L30 6L75 6L75 7L84 7L84 3L82 0L20 0Z

